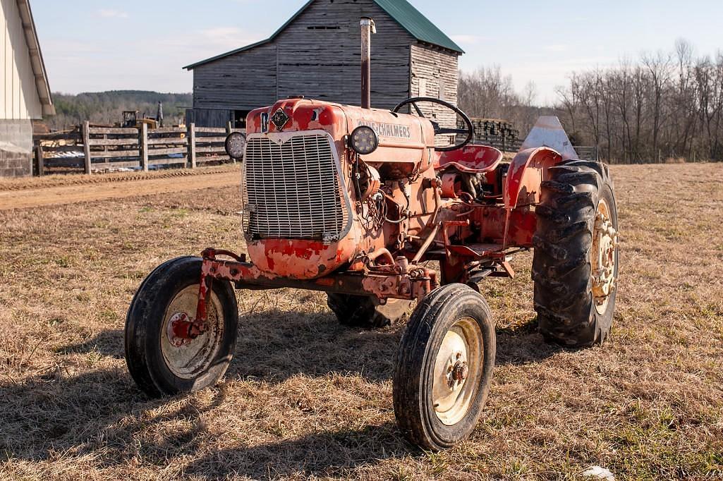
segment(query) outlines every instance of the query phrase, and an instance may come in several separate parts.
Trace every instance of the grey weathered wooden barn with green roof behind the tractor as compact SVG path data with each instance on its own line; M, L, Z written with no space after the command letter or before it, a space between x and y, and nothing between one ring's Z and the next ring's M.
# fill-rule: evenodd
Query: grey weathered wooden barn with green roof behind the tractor
M267 40L185 67L193 71L187 122L243 128L249 111L294 95L359 105L361 17L377 28L372 107L418 95L457 102L463 51L406 0L311 0Z

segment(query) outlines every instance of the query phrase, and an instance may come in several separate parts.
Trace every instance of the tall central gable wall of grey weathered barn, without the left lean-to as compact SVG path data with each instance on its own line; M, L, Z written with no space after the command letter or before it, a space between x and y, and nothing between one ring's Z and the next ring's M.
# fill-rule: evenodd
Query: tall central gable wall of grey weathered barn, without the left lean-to
M361 30L371 17L372 106L391 108L409 93L409 45L416 40L372 0L317 1L275 39L278 94L359 105Z

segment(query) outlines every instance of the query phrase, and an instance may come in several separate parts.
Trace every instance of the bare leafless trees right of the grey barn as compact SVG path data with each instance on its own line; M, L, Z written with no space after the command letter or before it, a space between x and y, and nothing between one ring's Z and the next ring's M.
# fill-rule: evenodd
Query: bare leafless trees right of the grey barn
M459 104L472 116L506 119L528 132L555 114L573 145L596 145L611 163L723 160L723 52L675 49L570 75L557 103L534 106L534 85L515 92L499 67L460 74Z

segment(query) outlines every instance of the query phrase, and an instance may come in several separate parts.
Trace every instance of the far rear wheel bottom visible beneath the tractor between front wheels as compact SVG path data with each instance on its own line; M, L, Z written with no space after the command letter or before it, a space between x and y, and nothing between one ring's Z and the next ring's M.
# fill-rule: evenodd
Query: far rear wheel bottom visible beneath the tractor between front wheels
M397 323L414 304L401 299L387 299L386 304L380 305L374 297L335 292L327 294L326 303L340 324L364 329L380 329Z

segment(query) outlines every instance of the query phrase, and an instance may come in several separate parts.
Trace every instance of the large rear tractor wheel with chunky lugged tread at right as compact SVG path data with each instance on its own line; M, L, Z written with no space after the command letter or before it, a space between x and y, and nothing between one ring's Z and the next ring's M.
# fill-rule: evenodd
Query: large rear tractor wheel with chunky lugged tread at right
M562 346L602 344L612 326L619 266L617 206L606 165L549 169L536 208L532 278L539 330Z

